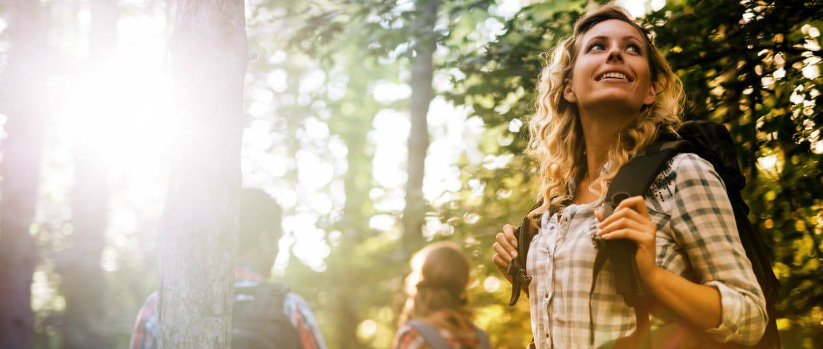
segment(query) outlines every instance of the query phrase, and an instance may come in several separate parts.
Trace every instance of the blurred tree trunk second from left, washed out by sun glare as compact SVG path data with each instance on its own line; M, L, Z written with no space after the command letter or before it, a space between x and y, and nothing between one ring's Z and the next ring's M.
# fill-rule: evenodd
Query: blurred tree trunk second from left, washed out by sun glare
M92 0L90 57L86 72L105 66L117 40L117 2ZM96 108L91 108L96 109ZM113 110L111 112L114 112ZM95 119L101 115L94 115ZM109 201L108 170L100 161L100 147L77 137L74 144L72 235L66 255L58 263L61 288L66 298L63 314L64 348L109 347L102 329L105 309L105 275L100 257L105 246Z

